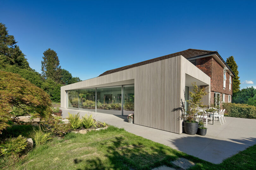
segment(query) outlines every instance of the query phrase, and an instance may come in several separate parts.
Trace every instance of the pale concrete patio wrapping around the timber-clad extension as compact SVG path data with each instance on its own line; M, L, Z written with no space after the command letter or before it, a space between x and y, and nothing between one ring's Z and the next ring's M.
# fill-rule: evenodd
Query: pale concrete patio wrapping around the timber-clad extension
M82 110L60 109L63 111L63 117L68 116L68 112L72 114L80 112L81 116L84 116L86 113L88 115L88 112ZM125 116L95 112L90 112L89 114L92 114L94 119L98 121L106 122L116 127L122 127L130 133L165 144L173 149L216 164L256 144L256 119L225 117L226 123L221 125L217 121L214 125L208 124L207 134L200 136L187 135L185 133L176 134L131 124L127 122Z

